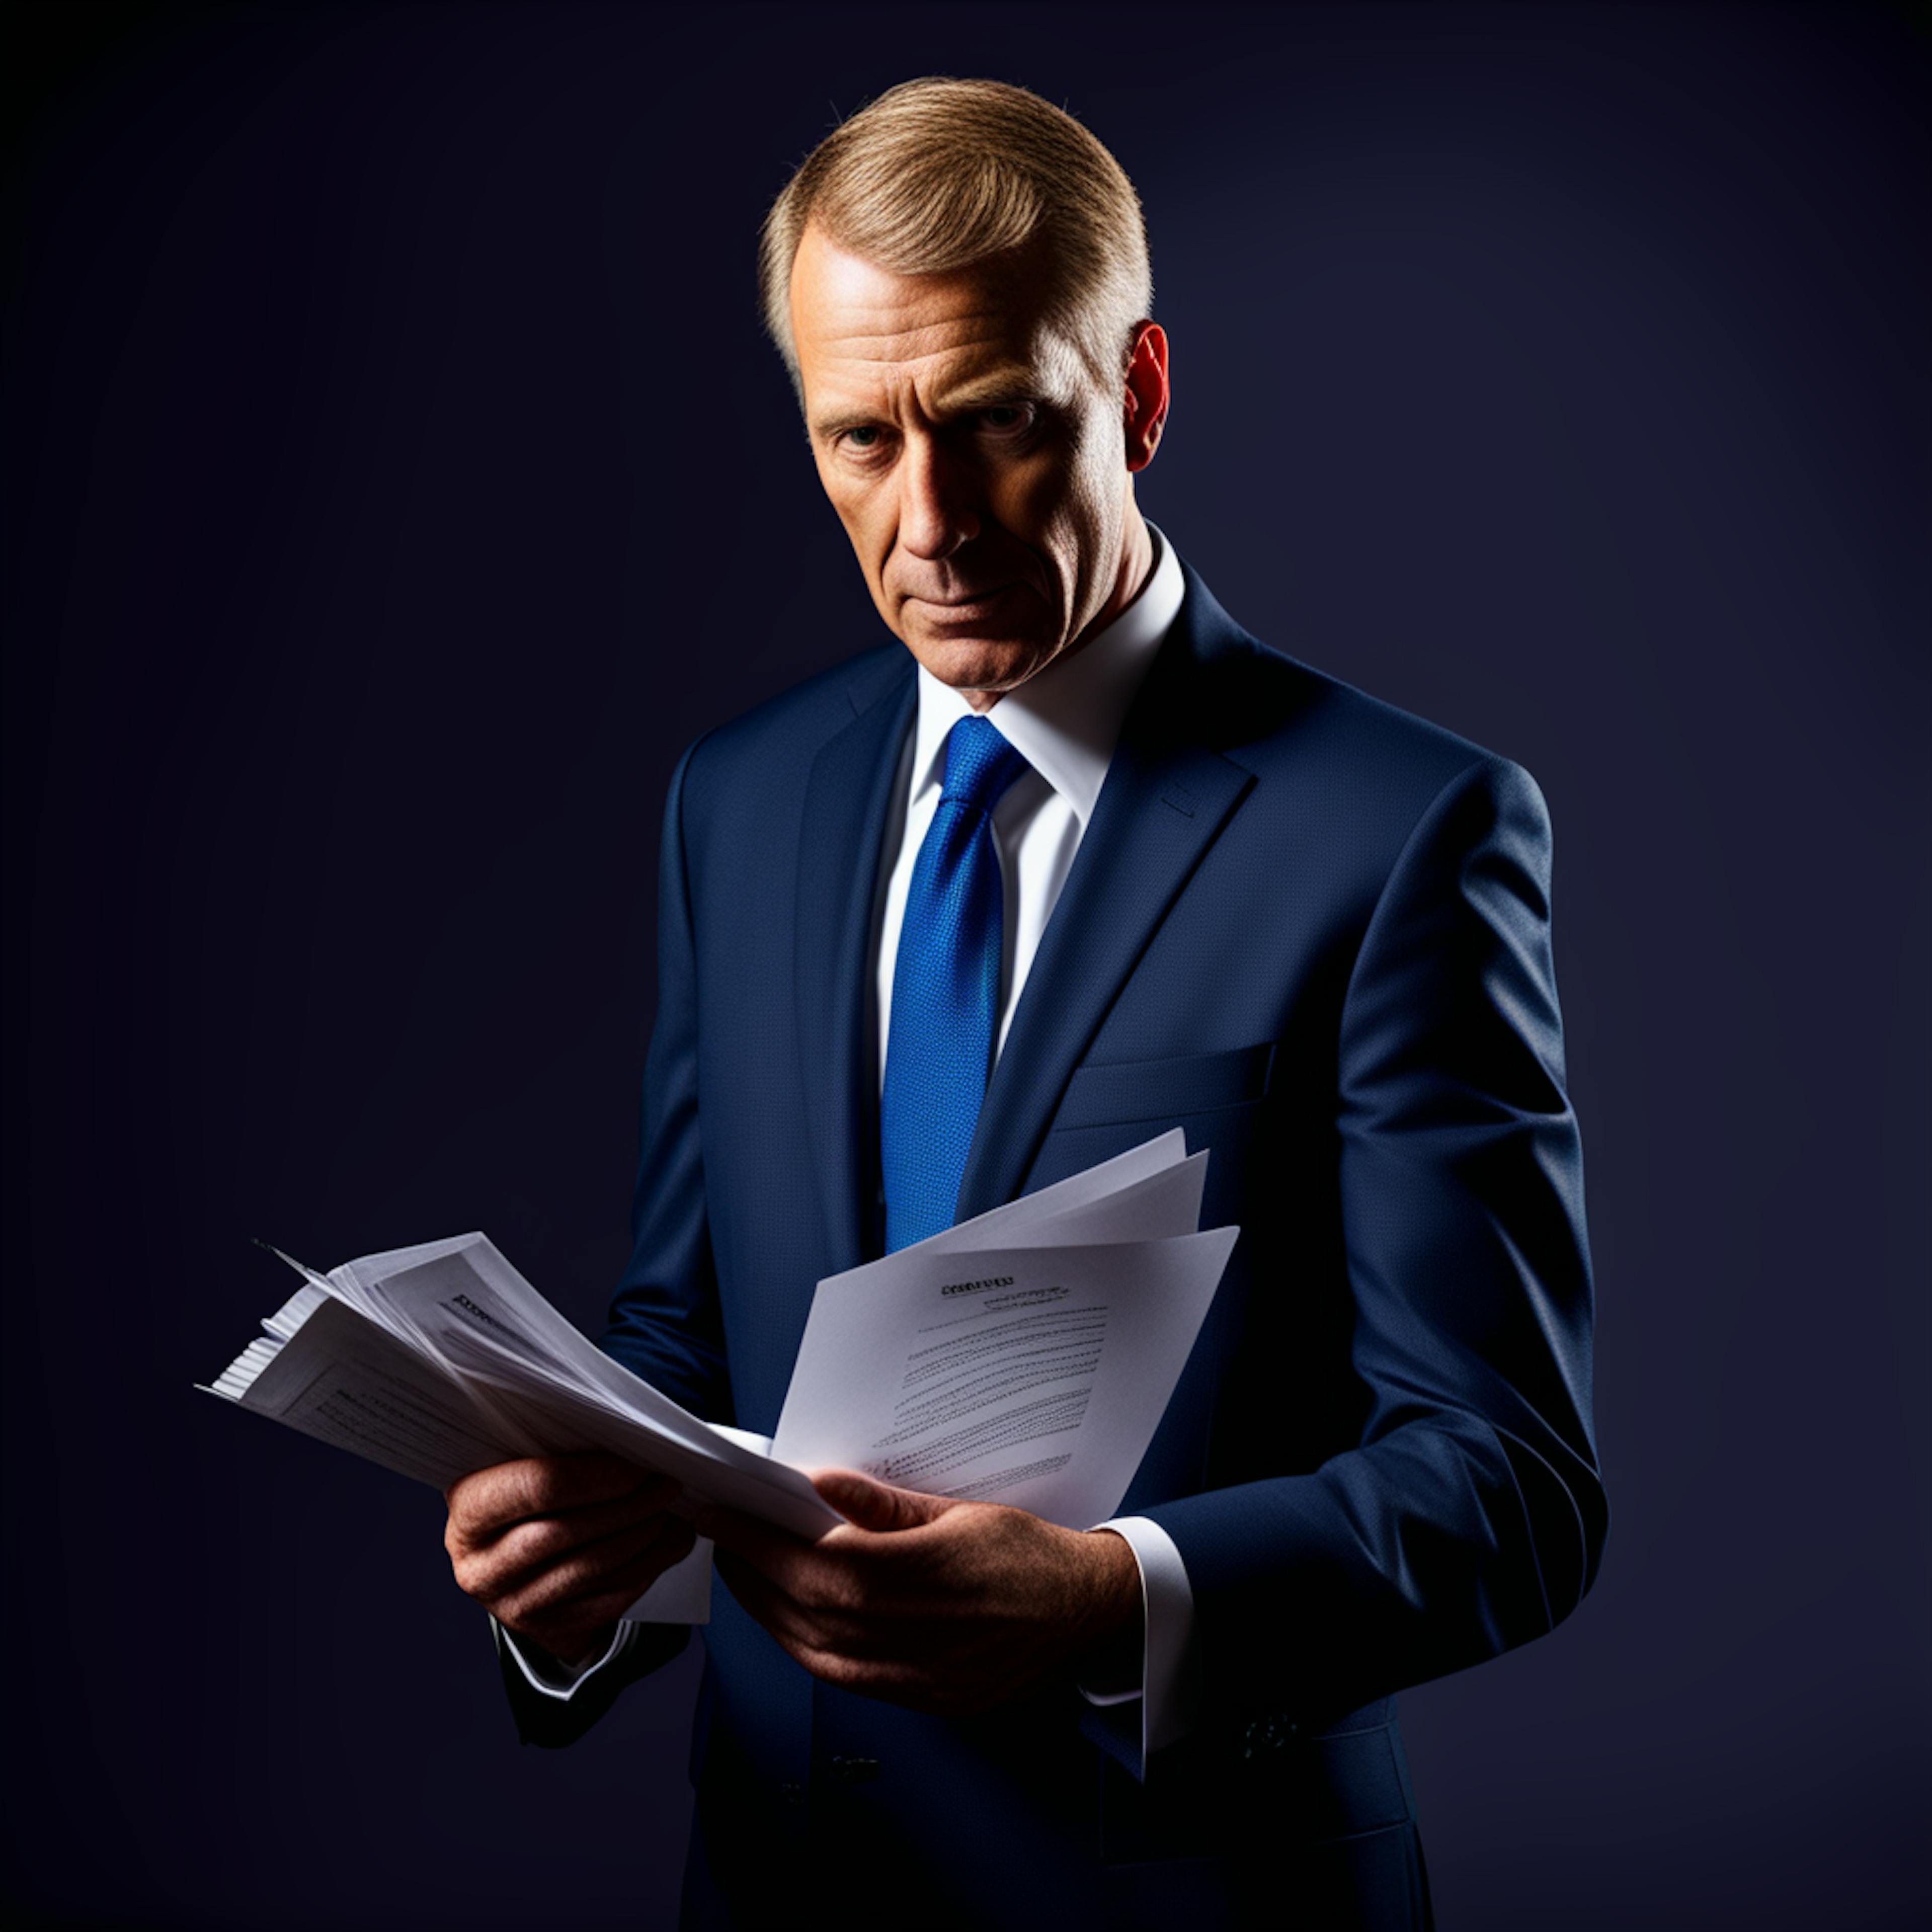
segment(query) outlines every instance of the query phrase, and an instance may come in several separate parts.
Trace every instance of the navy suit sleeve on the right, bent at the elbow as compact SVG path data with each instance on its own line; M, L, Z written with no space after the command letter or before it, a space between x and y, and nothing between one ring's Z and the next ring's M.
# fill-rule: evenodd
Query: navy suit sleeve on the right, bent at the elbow
M1194 1590L1202 1718L1318 1719L1577 1607L1605 1532L1582 1155L1549 958L1549 823L1464 769L1364 931L1337 1041L1360 1441L1148 1509Z

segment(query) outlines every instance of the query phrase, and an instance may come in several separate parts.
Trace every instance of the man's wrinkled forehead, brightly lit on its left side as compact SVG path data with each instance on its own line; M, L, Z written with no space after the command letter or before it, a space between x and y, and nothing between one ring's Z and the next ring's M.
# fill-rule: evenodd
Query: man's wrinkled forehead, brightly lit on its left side
M813 417L827 408L960 406L1076 379L1037 259L895 274L808 228L792 263L792 342Z

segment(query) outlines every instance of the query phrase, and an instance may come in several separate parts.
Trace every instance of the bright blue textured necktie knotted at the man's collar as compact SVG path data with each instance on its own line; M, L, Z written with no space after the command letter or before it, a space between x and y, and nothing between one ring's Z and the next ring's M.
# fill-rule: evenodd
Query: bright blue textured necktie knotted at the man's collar
M985 719L960 719L947 734L947 777L912 867L893 966L879 1103L889 1254L952 1227L999 1018L1003 893L991 815L1026 769Z

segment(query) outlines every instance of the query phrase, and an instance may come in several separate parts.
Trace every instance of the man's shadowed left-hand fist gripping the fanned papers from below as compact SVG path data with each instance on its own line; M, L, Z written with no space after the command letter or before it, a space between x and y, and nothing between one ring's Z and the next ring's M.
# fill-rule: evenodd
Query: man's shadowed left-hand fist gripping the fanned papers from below
M692 1526L680 1490L614 1455L524 1457L471 1470L444 1501L456 1582L500 1625L576 1663L672 1563Z

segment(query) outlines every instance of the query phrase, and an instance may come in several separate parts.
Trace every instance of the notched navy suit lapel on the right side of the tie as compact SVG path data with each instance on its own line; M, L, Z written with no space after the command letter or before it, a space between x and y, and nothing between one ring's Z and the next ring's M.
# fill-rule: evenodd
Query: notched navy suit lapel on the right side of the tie
M1254 775L1211 750L1206 661L1248 639L1200 578L1148 672L1039 939L966 1155L960 1221L1014 1198L1128 974Z

